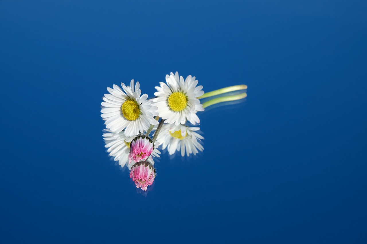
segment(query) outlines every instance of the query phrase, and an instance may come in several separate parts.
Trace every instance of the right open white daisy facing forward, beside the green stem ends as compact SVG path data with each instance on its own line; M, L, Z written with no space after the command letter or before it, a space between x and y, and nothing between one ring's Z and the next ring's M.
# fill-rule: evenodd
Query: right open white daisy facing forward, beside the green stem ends
M185 124L186 120L193 125L200 123L197 111L204 111L200 104L199 97L204 94L203 86L196 86L195 76L189 75L183 81L183 77L178 77L178 72L166 75L166 83L160 82L160 87L156 86L157 96L153 102L158 107L159 117L165 119L165 123Z

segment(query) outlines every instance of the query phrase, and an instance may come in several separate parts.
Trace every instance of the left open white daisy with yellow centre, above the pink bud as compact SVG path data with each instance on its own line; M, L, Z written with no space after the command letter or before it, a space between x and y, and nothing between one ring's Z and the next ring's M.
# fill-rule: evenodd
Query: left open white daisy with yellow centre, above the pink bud
M158 115L157 107L152 106L152 101L147 100L148 95L141 95L139 82L135 85L131 80L130 86L121 83L122 88L113 85L107 88L110 94L105 94L102 102L101 117L105 120L107 129L120 132L125 129L126 136L134 136L147 130L149 126L157 125L154 116Z

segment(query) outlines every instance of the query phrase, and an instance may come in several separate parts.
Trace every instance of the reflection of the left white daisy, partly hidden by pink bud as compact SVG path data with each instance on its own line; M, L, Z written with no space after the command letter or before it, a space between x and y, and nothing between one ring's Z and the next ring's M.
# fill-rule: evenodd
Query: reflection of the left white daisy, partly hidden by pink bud
M126 163L129 162L129 153L130 153L130 144L131 141L134 140L135 136L127 137L124 132L113 133L111 130L105 129L103 130L103 140L105 140L105 147L108 148L107 152L109 152L111 157L114 157L115 161L119 161L121 167L124 167ZM153 150L151 156L160 157L160 151L157 149L159 143L155 143L155 149ZM150 156L151 163L154 164L154 160ZM128 164L129 170L131 170L133 164Z

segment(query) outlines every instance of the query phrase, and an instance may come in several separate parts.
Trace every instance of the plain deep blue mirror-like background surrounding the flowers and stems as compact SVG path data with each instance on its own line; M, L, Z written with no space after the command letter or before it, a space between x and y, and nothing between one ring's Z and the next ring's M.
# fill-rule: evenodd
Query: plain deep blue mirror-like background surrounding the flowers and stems
M365 1L0 1L1 243L366 243ZM205 91L204 152L146 197L102 140L106 87Z

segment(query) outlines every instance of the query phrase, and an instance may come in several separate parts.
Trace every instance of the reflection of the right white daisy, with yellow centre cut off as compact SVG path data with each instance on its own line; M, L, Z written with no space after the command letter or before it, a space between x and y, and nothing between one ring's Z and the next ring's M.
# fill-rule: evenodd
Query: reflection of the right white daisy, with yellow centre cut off
M199 143L204 137L195 131L200 130L199 127L189 127L185 125L164 124L157 136L157 141L162 143L162 149L168 149L170 155L181 150L181 156L190 154L196 155L199 151L203 151L203 146ZM199 141L198 141L199 140ZM199 151L198 151L199 150Z

